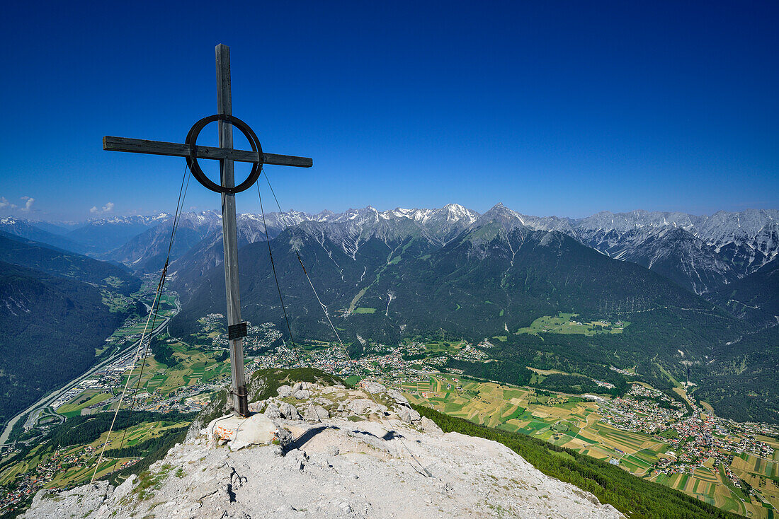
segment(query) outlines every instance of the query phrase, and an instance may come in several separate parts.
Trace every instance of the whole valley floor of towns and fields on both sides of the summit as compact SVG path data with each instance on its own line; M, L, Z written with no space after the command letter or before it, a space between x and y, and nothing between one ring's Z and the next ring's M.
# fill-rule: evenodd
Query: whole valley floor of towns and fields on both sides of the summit
M174 301L173 296L168 300ZM171 303L164 311L174 309L175 304ZM131 371L125 359L93 372L86 384L82 380L48 410L67 418L65 424L76 417L88 419L96 412L99 416L111 416L105 411L115 407L116 388L129 376L131 387L140 388L132 398L132 408L151 412L149 416L159 419L146 419L127 427L120 421L108 452L183 431L180 428L188 423L186 420L177 418L170 422L166 416L171 412L175 416L192 416L186 413L203 409L211 395L229 380L221 318L217 314L203 316L199 331L189 338L172 338L158 328L160 333L155 341L171 349L171 366L155 358L153 351L157 346L151 345L143 366L137 363ZM560 320L562 324L576 322L572 318L573 315L545 317L541 328L558 328ZM597 322L604 327L608 323ZM125 331L136 331L133 326L125 326ZM397 387L411 402L608 461L633 475L679 489L723 510L749 517L771 517L779 506L779 429L717 417L705 402L695 402L688 395L687 391L693 391L694 386L680 384L682 399L675 399L642 382L633 370L612 366L614 373L631 379L626 393L615 397L610 393L614 385L602 380L594 381L601 390L592 394L544 389L548 377L576 375L562 370L533 368L529 385L495 383L452 372L452 360L488 363L495 344L502 343L501 337L478 344L452 340L446 334L443 338L421 338L392 346L372 343L351 360L340 345L332 342L305 341L298 345L296 353L288 342L284 344L282 335L270 323L250 325L249 330L248 373L302 365L337 374L351 384L367 376ZM566 335L565 330L557 333ZM122 332L116 337L122 337ZM692 405L685 405L684 401ZM38 424L41 432L50 430L50 426ZM55 426L51 430L58 429ZM115 443L120 434L127 436L126 443ZM19 491L9 489L22 489L24 493L40 486L62 487L85 481L91 475L90 464L96 450L105 440L103 435L89 443L58 450L38 446L11 463L4 458L0 485L6 498L2 503L12 506L14 499L18 502L23 497ZM112 472L131 469L139 459L111 455L99 472L108 477ZM63 460L67 462L63 464Z

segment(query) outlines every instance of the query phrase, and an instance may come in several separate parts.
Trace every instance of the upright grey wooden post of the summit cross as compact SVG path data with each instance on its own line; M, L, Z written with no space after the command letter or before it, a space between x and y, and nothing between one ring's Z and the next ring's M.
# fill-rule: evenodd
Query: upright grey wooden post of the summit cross
M230 81L230 47L219 44L217 53L217 108L219 114L232 115L232 94ZM219 121L219 147L232 149L233 126ZM235 185L233 161L219 162L222 186ZM222 193L222 234L224 241L224 289L227 296L227 329L241 323L241 293L238 289L238 236L235 222L235 195ZM230 363L232 371L231 392L233 407L240 416L249 416L249 398L246 394L244 372L243 338L230 338Z

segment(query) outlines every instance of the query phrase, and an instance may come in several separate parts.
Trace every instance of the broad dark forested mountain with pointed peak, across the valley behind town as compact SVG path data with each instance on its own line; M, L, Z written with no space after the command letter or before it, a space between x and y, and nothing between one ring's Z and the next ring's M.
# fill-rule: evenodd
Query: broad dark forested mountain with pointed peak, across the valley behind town
M296 251L351 341L360 335L391 342L439 329L477 340L565 311L635 321L619 339L622 349L646 356L662 346L700 356L710 342L735 339L740 329L711 303L640 265L608 258L562 233L489 215L443 247L413 233L363 238L357 248L344 247L321 224L305 223L272 240L295 334L332 335ZM243 247L239 263L245 319L280 323L267 245ZM185 296L174 328L185 331L220 311L223 301L224 274L213 268Z

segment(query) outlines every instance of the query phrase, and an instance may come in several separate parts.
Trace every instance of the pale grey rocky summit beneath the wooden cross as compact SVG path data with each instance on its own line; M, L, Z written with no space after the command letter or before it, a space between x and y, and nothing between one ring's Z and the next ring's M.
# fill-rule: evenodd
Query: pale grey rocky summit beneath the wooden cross
M118 487L41 490L23 517L622 517L502 444L442 433L381 384L276 392L243 422L196 422Z

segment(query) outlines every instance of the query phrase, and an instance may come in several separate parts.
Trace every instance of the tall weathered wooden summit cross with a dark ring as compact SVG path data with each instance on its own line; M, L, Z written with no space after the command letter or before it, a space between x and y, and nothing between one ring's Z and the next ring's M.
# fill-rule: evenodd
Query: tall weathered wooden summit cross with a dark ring
M254 185L263 169L263 164L274 166L312 167L313 161L306 157L273 155L263 153L257 135L244 121L232 115L230 82L230 47L217 45L217 107L218 113L204 117L189 130L184 144L176 142L146 141L123 137L103 138L103 149L115 152L150 153L152 155L182 156L187 160L189 170L200 184L222 195L222 231L224 240L224 286L227 295L227 338L230 341L230 362L232 368L231 391L235 412L249 416L249 401L246 395L244 373L243 338L246 323L241 321L241 297L238 289L238 240L235 223L235 193L245 191ZM219 147L197 146L200 131L213 121L219 121ZM252 151L233 149L233 126L249 140ZM200 169L198 159L219 160L221 184L215 184ZM252 163L249 177L235 185L233 162Z

